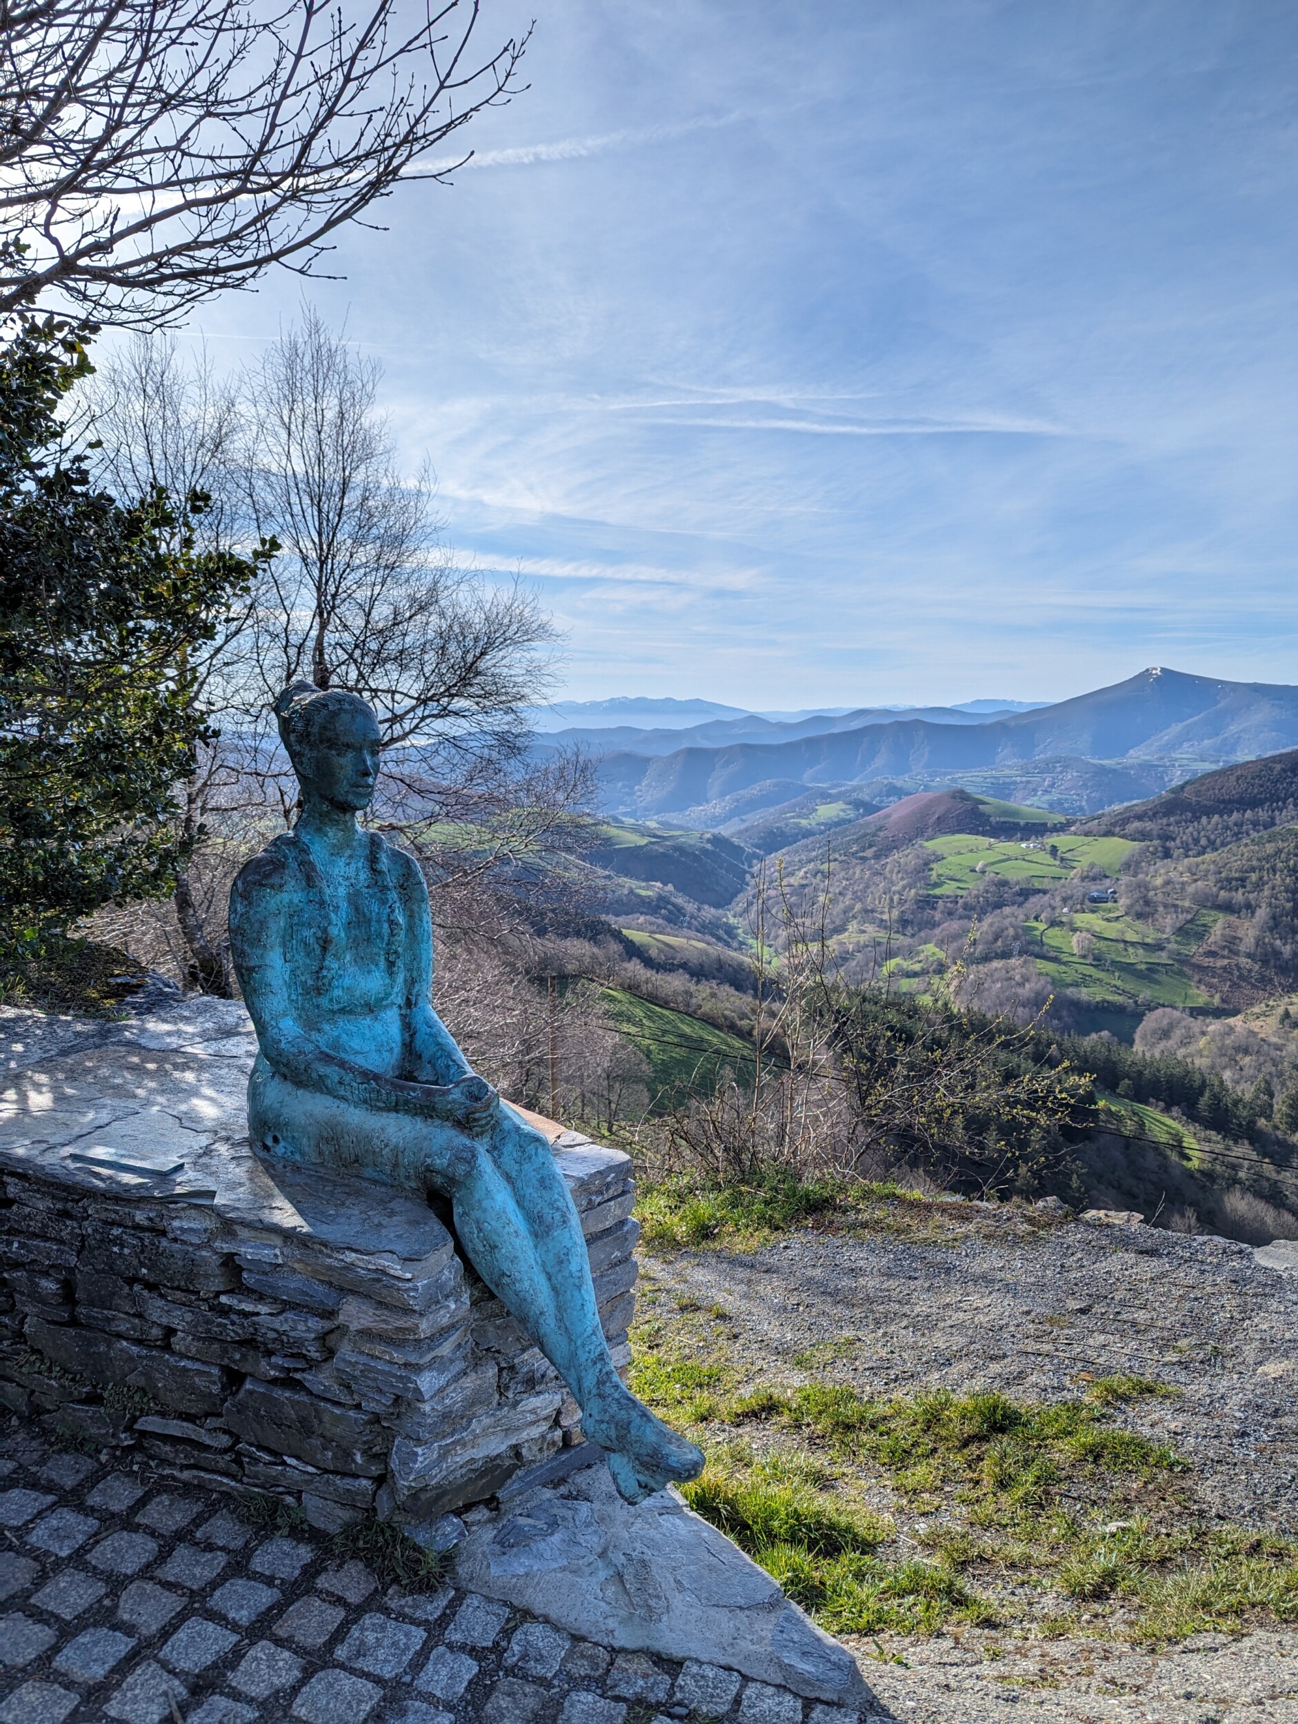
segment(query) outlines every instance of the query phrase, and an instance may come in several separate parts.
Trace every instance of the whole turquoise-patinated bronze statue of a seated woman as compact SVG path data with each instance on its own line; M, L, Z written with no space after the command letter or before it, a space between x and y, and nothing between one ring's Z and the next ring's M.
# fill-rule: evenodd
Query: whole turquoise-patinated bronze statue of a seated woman
M474 1076L433 1010L433 929L414 859L362 831L379 728L355 695L276 702L302 815L243 869L229 938L257 1029L253 1143L450 1198L477 1274L564 1377L614 1481L640 1502L703 1455L617 1376L581 1222L550 1145Z

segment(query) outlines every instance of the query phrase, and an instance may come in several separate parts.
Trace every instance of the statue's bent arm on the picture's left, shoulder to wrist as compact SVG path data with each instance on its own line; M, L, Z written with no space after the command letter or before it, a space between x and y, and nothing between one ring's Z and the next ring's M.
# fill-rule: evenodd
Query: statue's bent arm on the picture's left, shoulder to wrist
M374 1112L453 1117L459 1109L448 1110L431 1084L367 1071L329 1053L302 1029L284 976L283 929L291 909L283 860L267 852L253 857L229 895L229 945L257 1043L274 1071L303 1090Z

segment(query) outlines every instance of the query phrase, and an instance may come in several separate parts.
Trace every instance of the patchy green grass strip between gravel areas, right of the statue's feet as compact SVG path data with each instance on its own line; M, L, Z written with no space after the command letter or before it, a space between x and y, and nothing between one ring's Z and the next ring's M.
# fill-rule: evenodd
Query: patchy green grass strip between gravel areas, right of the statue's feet
M662 1303L633 1333L631 1383L707 1448L686 1498L831 1633L976 1622L1165 1643L1298 1621L1298 1543L1205 1512L1186 1462L1127 1426L1177 1393L1162 1383L1107 1376L1064 1402L753 1388L724 1312Z

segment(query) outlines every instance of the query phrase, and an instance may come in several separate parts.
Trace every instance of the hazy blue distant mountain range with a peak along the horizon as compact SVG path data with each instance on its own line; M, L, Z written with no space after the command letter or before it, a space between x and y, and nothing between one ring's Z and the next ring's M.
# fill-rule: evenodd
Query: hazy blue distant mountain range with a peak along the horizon
M826 722L833 728L808 728ZM641 743L622 741L603 753L596 769L605 807L643 819L688 815L700 805L727 802L738 814L736 802L745 800L738 793L769 783L769 800L752 798L743 809L755 814L791 800L789 788L798 784L843 786L886 778L952 783L1065 757L1153 762L1165 784L1195 769L1298 746L1298 688L1155 667L1112 688L1022 712L967 714L950 707L898 717L886 709L862 709L829 721L795 721L795 734L779 740L750 740L746 731L736 736L734 729L715 741L693 740L700 729L752 724L752 717L708 721L693 728L684 745L679 733L671 736L669 750L658 746L660 733L645 733L650 740ZM552 736L546 743L559 740ZM574 740L572 733L564 740ZM1133 783L1133 790L1148 795L1157 779L1145 784Z

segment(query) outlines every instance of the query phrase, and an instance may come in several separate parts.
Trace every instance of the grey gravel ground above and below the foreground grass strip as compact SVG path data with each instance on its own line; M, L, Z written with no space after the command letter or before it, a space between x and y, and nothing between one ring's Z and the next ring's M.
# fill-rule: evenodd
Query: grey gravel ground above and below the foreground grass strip
M1298 1274L1227 1240L952 1215L936 1238L803 1233L752 1253L646 1255L641 1290L721 1307L753 1386L807 1381L793 1360L817 1345L817 1377L876 1395L1052 1400L1081 1372L1157 1377L1183 1393L1120 1417L1172 1443L1222 1517L1298 1534ZM1298 1724L1298 1633L1196 1636L1162 1655L972 1629L889 1641L905 1664L855 1650L879 1703L915 1724Z

